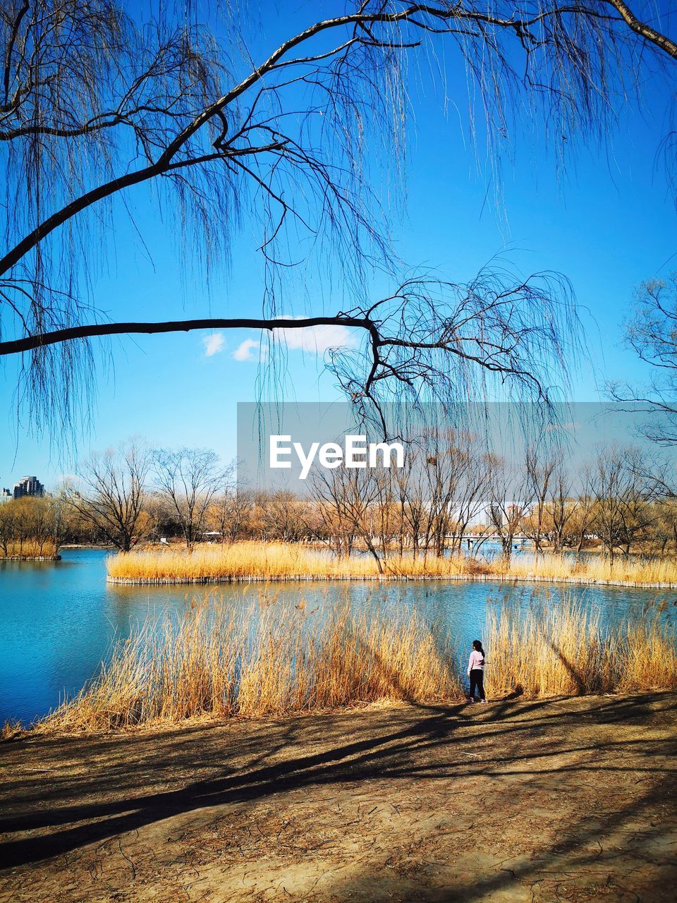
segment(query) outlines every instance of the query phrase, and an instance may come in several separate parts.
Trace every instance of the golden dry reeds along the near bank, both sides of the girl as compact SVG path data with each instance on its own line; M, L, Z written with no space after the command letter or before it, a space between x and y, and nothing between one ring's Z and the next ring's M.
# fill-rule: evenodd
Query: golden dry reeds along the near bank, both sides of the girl
M484 644L494 698L677 689L675 635L656 613L605 631L575 600L504 607L489 610ZM450 702L463 695L454 661L449 643L411 610L356 614L345 605L312 626L310 615L268 600L239 611L199 603L118 644L97 679L38 730Z

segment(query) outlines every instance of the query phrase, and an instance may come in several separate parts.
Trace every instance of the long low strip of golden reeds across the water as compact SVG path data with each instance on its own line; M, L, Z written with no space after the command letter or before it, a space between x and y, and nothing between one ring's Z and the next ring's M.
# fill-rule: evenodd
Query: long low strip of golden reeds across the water
M336 558L303 545L236 543L116 554L107 561L108 580L119 583L218 583L257 580L525 580L677 586L677 560L605 555L579 563L573 555L513 556L487 563L460 554L395 555L381 563L371 555Z

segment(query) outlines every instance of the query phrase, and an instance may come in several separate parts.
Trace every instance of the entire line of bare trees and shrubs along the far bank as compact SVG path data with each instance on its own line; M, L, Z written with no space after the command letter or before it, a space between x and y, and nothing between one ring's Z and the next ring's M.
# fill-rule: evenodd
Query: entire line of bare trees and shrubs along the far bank
M530 449L515 462L445 433L414 446L402 469L320 470L301 497L237 491L234 466L209 450L127 444L93 457L54 497L0 507L0 549L73 542L129 551L163 538L190 549L255 539L319 542L339 557L360 548L381 561L404 551L441 556L472 534L496 537L505 559L521 535L536 555L580 554L591 544L612 559L666 554L677 552L672 485L670 471L648 470L636 448L603 448L581 464Z

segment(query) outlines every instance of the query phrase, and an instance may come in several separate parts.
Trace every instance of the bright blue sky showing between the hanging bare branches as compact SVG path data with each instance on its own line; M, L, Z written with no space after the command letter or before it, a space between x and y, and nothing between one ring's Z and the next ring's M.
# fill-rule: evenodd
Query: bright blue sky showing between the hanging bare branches
M291 12L285 18L287 7ZM279 19L267 28L254 19L248 36L253 57L269 51L290 27L313 21L317 8L281 3ZM441 88L422 79L417 90L406 162L407 208L394 226L398 254L410 266L435 267L458 281L471 278L502 251L524 274L559 271L570 279L584 309L589 357L574 377L572 400L603 399L607 379L645 377L633 352L622 345L622 321L635 284L677 269L677 214L656 162L670 100L667 88L652 91L644 116L619 109L610 143L577 154L566 176L558 174L543 138L524 129L515 137L511 160L503 163L502 212L491 203L487 173L478 169L468 148L467 122L453 110L444 115ZM231 270L212 282L209 301L198 276L182 285L172 219L161 221L143 190L130 192L127 201L148 251L127 226L116 232L108 272L94 286L102 309L131 320L260 312L261 267L246 217ZM309 277L310 295L313 280L319 279L318 272ZM305 302L292 307L290 315L307 309ZM322 372L322 355L310 349L315 340L321 347L336 338L297 337L285 349L285 400L340 397L333 377ZM236 402L252 401L261 392L258 339L243 331L112 340L114 365L107 366L104 355L91 429L70 452L59 452L51 437L31 436L17 425L16 364L10 360L0 397L0 485L12 485L27 473L53 485L60 474L76 468L78 454L133 435L164 446L207 446L231 459Z

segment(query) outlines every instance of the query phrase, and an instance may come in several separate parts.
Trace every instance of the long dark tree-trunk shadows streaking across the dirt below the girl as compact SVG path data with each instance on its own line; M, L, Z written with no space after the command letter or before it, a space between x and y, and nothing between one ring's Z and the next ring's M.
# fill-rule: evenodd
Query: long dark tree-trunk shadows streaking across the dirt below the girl
M650 717L656 699L660 700L662 712L677 707L674 694L609 697L591 704L586 717L589 723L599 725L614 721L641 723ZM51 755L62 755L64 744L68 744L67 759L90 761L92 766L84 776L59 777L47 786L41 785L40 776L31 775L5 787L5 813L14 815L0 818L0 833L28 832L30 836L9 839L0 845L0 865L16 867L41 861L174 815L255 802L303 787L341 782L354 787L375 779L406 780L413 776L447 781L496 774L506 777L513 773L513 766L515 774L521 776L529 774L530 768L534 774L545 772L553 776L575 768L581 777L586 769L633 773L641 770L645 778L654 776L657 780L661 775L667 780L672 775L657 767L655 759L677 752L677 744L671 745L667 740L610 739L590 745L564 745L555 750L538 749L526 759L519 753L500 759L478 755L468 761L459 754L459 746L466 743L479 744L473 748L482 749L482 737L489 729L492 740L519 740L520 732L526 735L534 729L546 731L549 724L580 721L577 710L569 711L552 700L504 700L473 707L471 712L465 704L395 709L386 715L386 721L390 730L375 731L365 712L293 718L265 725L254 739L246 736L241 742L237 733L218 727L178 728L160 735L130 734L124 739L124 759L112 770L104 763L107 752L113 749L119 753L123 742L119 738L33 740L25 744L25 756L38 749L41 760L49 760ZM348 730L354 731L357 739L345 742ZM295 745L301 740L303 749L320 743L324 749L294 755ZM5 761L10 752L14 761L20 759L21 746L5 747ZM233 749L240 759L244 757L236 769L232 765ZM614 764L607 762L607 755L621 749L633 749L635 755L641 755L641 768L636 762L626 765L622 756L614 759ZM547 768L549 756L579 753L594 754L594 759L589 764L577 760L570 766ZM285 754L287 758L274 760ZM219 764L219 759L226 761ZM205 769L209 776L186 781L181 787L153 791L153 784L167 786L163 776L169 776L172 768L181 764L185 774L193 763L195 769ZM113 798L104 798L110 796ZM637 805L646 805L645 797Z

